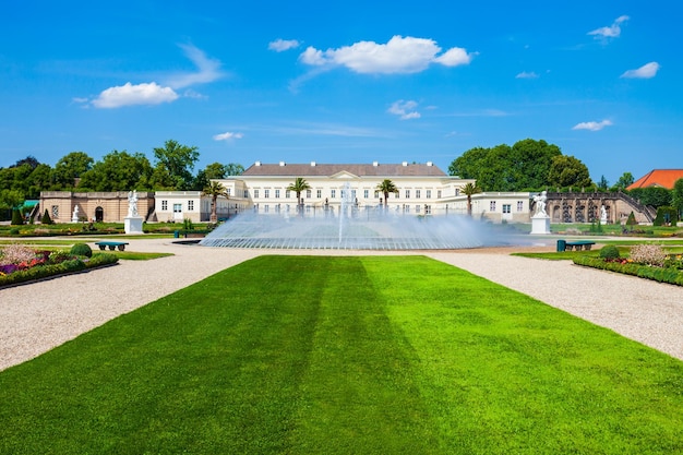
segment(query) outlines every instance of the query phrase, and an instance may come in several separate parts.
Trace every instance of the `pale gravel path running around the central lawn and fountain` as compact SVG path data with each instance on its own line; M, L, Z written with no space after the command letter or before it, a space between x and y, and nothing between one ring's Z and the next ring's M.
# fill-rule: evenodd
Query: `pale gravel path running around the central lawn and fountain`
M300 251L195 248L129 240L131 251L172 252L31 285L0 289L0 370L224 268L254 256ZM548 249L548 248L546 248ZM506 250L378 252L424 254L529 295L683 360L683 288L575 266L506 255ZM313 251L305 254L369 254Z

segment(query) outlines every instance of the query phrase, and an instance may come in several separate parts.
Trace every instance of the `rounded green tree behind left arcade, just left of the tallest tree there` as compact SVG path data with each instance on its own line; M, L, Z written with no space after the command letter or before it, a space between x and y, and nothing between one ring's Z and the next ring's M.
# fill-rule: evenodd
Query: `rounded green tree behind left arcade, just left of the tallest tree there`
M83 173L79 188L91 191L131 191L153 189L152 165L141 153L113 151Z

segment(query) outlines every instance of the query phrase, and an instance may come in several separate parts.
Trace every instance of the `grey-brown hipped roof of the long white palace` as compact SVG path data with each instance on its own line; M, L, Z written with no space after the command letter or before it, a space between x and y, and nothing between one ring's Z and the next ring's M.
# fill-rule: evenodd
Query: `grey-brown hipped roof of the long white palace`
M242 176L328 177L349 172L358 177L446 177L431 164L398 165L322 165L322 164L254 164Z

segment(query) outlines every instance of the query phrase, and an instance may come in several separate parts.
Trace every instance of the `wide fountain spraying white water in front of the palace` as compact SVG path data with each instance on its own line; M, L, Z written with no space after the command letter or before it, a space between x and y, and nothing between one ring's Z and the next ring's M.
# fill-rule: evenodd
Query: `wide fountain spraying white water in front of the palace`
M466 215L416 216L385 206L360 209L345 185L339 209L242 213L200 241L204 247L328 250L444 250L510 244L500 229ZM321 209L322 208L322 209Z

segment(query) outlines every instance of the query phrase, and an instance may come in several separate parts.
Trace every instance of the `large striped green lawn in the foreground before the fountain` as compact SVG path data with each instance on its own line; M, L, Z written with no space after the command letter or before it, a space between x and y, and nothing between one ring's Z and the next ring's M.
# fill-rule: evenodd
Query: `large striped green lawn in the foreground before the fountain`
M420 256L257 258L0 373L0 404L3 454L683 447L683 362Z

